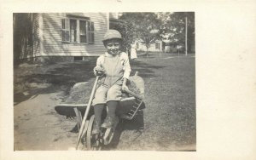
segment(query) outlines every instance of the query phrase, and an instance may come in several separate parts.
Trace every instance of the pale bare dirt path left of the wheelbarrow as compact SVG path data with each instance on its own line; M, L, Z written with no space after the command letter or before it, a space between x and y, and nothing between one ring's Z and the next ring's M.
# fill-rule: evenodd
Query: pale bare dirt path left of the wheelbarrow
M68 150L77 134L75 121L57 115L54 106L61 93L39 94L15 106L15 150Z

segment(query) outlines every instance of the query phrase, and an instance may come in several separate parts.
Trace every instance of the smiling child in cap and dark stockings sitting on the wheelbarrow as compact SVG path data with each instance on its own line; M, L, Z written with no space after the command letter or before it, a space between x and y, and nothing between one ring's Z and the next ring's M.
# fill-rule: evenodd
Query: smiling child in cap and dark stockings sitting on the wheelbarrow
M103 43L107 52L100 55L96 61L94 73L101 76L100 87L96 89L92 106L95 113L95 122L92 134L100 133L100 128L111 128L115 118L115 110L121 99L122 90L128 89L126 82L130 76L131 66L128 55L120 51L122 37L119 31L106 32ZM102 111L108 106L107 117L102 123ZM102 123L102 125L101 125Z

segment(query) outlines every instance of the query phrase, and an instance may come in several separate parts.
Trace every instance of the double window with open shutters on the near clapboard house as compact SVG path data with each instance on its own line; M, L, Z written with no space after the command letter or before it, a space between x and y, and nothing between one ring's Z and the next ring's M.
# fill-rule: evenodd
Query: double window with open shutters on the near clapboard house
M62 19L62 42L94 43L94 22L79 19Z

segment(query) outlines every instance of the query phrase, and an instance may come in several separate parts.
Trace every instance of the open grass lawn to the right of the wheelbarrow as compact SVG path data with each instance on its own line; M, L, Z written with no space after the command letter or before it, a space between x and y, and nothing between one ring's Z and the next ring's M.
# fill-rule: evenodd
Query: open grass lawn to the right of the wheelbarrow
M195 150L195 58L149 54L131 66L145 80L147 108L140 140L150 144L148 150Z

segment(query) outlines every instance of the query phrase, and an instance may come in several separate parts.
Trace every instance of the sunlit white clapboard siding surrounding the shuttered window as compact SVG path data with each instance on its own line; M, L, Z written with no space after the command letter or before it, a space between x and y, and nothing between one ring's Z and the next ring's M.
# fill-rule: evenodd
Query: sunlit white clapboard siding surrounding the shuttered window
M43 14L44 54L47 56L96 56L102 54L105 48L102 39L108 30L108 17L106 13L83 13L89 17L95 26L95 43L62 43L61 20L67 18L66 13Z

